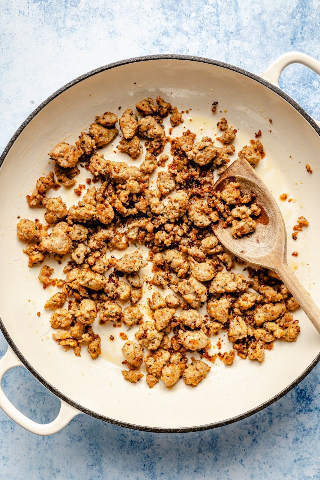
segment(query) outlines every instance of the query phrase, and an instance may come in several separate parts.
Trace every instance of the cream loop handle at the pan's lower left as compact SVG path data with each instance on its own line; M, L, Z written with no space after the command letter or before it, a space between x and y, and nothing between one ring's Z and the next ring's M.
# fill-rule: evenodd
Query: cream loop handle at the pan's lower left
M36 433L37 435L52 435L53 433L59 432L59 430L65 427L70 420L81 413L76 408L71 407L71 405L61 400L59 414L55 420L50 423L41 424L26 417L17 408L15 408L14 405L12 405L1 388L1 380L5 372L19 366L24 365L18 359L13 350L8 346L8 350L0 359L0 408L18 425L26 430L29 430L29 432Z

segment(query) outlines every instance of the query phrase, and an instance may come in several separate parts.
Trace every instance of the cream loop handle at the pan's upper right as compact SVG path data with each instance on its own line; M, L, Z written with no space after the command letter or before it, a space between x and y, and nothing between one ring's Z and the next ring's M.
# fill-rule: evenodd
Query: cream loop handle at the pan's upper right
M282 71L292 63L302 63L302 65L305 65L320 75L320 61L306 55L305 53L288 52L281 55L277 60L274 60L270 67L261 73L260 76L279 87L279 79ZM315 120L315 122L320 127L320 121Z

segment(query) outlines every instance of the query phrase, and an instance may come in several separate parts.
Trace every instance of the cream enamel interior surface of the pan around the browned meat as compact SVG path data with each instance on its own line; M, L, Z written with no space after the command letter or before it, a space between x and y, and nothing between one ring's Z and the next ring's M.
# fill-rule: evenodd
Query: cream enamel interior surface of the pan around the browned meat
M16 235L18 216L41 220L44 210L30 209L25 195L34 189L39 176L52 169L47 153L55 144L61 141L74 144L81 132L88 131L95 115L105 111L121 114L143 98L156 96L177 105L179 111L189 110L183 116L184 123L173 130L172 136L190 129L197 133L197 141L202 135L214 138L217 121L225 117L228 124L237 129L236 153L230 157L231 161L255 138L255 132L261 130L266 155L256 172L273 193L284 216L289 266L319 305L320 256L314 255L318 250L320 228L316 206L318 133L284 98L249 76L210 63L162 59L120 65L65 89L36 114L12 145L0 169L0 315L6 336L11 337L25 361L59 396L93 415L122 424L144 429L194 429L222 424L270 402L308 369L319 355L320 343L318 333L301 309L294 312L301 327L296 343L275 342L271 351L266 350L262 363L236 356L233 366L227 367L216 360L208 362L211 372L196 388L179 381L169 389L161 382L149 389L144 379L130 384L122 377L123 341L119 332L125 331L133 339L133 333L127 332L124 325L121 329L111 324L94 326L101 336L103 350L95 361L85 351L79 358L73 355L72 349L64 352L57 345L48 322L50 312L43 308L57 289L42 289L38 280L41 265L28 268L27 255L22 252L25 244ZM215 101L218 105L213 115L211 108ZM166 132L167 129L166 125ZM128 162L129 157L115 148L118 141L119 137L106 147L103 152L106 158L139 166L143 158ZM312 166L312 175L307 172L306 163ZM88 171L83 169L77 181L84 183L88 176ZM279 199L284 192L292 198L291 202ZM79 200L72 188L48 192L48 196L57 195L61 195L68 206ZM306 216L309 226L295 241L291 232L301 215ZM292 257L293 251L298 251L299 256ZM120 257L127 252L113 251L112 254ZM63 278L63 265L59 267L53 260L44 263L55 268L54 277ZM239 267L239 272L242 270L243 266ZM142 308L143 303L145 305L144 319L148 316L146 298L151 295L152 291L150 295L145 291L141 302ZM202 313L206 313L205 308ZM112 334L113 342L109 339ZM221 351L230 350L232 344L225 336L220 337L223 338ZM213 345L218 338L211 337Z

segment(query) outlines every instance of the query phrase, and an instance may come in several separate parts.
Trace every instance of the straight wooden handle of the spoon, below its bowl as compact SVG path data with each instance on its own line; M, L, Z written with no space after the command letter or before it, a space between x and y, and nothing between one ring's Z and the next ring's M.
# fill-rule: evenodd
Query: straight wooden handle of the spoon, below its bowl
M301 283L287 264L280 264L275 272L280 276L281 280L283 280L285 286L295 297L308 319L320 333L320 310L310 297L310 294L302 287Z

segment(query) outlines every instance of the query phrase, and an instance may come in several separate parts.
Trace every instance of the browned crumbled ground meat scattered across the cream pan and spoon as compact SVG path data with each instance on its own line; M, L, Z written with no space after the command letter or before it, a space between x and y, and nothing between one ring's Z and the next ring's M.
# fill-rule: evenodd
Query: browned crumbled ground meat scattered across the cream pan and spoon
M216 105L212 105L214 111ZM182 122L183 111L178 112L160 96L155 102L152 98L142 100L137 108L143 115L139 120L131 109L119 119L123 134L119 154L116 145L112 146L118 156L122 150L124 161L108 160L99 151L99 146L113 140L118 132L114 128L117 116L112 112L97 116L90 134L82 132L75 147L62 145L59 161L68 167L56 163L60 183L75 186L73 177L79 169L70 166L68 155L72 163L82 150L80 165L94 177L86 183L100 182L101 186L88 188L78 204L67 209L60 197L46 198L47 188L55 186L53 172L39 179L31 205L46 206L46 220L55 227L48 233L39 220L21 219L18 237L28 242L25 252L30 266L42 262L46 255L54 254L61 263L64 254L71 254L63 270L65 280L56 284L62 291L53 293L45 304L54 311L51 324L57 330L53 337L61 346L81 356L84 344L96 359L101 354L101 339L92 329L94 322L120 329L122 324L123 329L137 325L132 328L136 329L136 341L127 341L128 334L119 333L126 341L122 363L128 370L122 371L124 378L131 383L139 381L143 374L137 369L144 360L150 388L160 380L166 386L173 385L181 376L194 387L210 367L194 357L188 363L188 352L198 351L203 359L214 361L218 354L211 354L209 337L214 340L222 330L228 332L234 347L219 354L226 365L233 363L235 351L241 358L262 361L264 350L273 348L276 338L296 340L299 326L289 312L298 304L273 272L245 267L243 272L249 273L249 279L234 273L233 256L224 252L211 230L218 212L225 215L226 222L234 218L239 223L247 218L248 209L249 216L259 215L252 195L245 198L224 192L223 198L211 195L207 203L213 170L221 174L235 151L229 143L236 129L230 129L225 118L218 122L223 132L221 146L209 137L196 139L190 130L169 139L163 120L171 114L170 124L176 126ZM187 114L189 110L185 110ZM134 158L141 137L146 140L146 153L139 168L128 165L125 156ZM169 140L170 161L169 155L162 154ZM241 153L252 164L264 155L260 141L251 141ZM168 167L158 175L155 172L156 186L151 186L153 171L166 167L166 162ZM75 190L81 193L84 189L85 185L79 184ZM308 221L299 217L297 223L302 228ZM135 252L111 256L110 251L126 250L130 243ZM152 260L153 277L144 278L144 282L146 259L139 244L150 249L148 260ZM149 292L153 285L159 291ZM168 287L178 297L167 294L164 289ZM140 311L143 288L150 297L147 317ZM206 301L208 314L201 316L197 309ZM120 302L129 306L122 309ZM111 341L115 339L110 329L108 336ZM217 347L222 347L220 338Z

